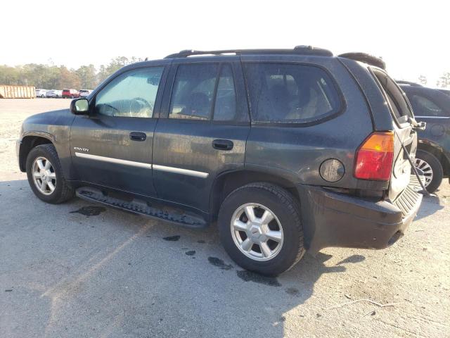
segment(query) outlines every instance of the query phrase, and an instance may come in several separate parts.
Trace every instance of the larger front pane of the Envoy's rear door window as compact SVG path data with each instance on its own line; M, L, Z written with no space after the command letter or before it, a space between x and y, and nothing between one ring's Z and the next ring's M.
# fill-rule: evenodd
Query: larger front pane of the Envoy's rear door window
M176 70L169 118L208 120L211 115L217 64L179 65Z

